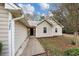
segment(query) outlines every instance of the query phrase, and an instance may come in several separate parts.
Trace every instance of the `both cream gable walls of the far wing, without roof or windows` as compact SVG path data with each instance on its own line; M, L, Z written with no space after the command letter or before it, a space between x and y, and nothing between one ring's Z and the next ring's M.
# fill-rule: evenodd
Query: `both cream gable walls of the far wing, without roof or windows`
M58 25L55 21L51 20L53 26L49 25L47 22L43 22L36 27L36 37L50 37L50 36L61 36L62 27ZM47 27L47 33L43 33L43 27ZM55 29L57 28L57 32Z

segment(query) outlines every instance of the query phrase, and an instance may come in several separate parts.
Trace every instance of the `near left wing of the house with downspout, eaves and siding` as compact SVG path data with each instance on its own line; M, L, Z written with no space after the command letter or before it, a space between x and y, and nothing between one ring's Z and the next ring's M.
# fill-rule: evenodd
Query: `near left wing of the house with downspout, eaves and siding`
M13 3L0 3L0 42L2 55L20 55L28 42L28 23L22 9Z

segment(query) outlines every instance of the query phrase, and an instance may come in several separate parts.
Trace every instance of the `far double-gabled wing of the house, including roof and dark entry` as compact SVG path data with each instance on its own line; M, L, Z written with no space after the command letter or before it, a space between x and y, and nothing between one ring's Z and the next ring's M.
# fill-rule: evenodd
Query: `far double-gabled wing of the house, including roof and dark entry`
M28 23L30 25L30 36L53 37L62 35L63 25L55 18L45 17L42 21L28 21Z

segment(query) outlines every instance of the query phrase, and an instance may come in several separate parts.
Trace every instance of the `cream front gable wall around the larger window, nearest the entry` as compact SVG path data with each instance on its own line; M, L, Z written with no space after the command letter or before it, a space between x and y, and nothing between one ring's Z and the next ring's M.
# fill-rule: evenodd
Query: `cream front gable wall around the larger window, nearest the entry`
M43 33L43 27L47 27L47 33ZM52 27L46 21L36 27L36 37L49 37L52 35Z

